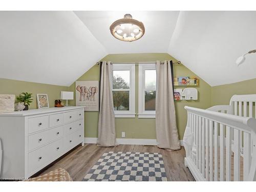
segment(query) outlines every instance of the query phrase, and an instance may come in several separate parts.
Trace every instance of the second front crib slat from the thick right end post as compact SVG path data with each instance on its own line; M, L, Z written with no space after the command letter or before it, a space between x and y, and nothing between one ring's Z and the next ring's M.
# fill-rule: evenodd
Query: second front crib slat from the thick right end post
M226 181L231 180L231 128L226 126Z

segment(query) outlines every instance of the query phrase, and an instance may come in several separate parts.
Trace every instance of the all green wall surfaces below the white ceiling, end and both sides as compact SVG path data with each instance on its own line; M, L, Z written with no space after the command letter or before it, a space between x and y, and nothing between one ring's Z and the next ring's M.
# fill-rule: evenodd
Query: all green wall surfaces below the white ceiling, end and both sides
M144 54L110 54L102 60L112 62L135 62L139 61L156 61L156 60L174 60L175 58L167 53L144 53ZM174 65L174 75L178 76L197 76L183 65ZM78 80L99 80L99 66L93 66L88 72L84 73ZM183 138L186 126L186 111L184 106L194 106L196 108L206 109L212 105L228 104L234 94L256 94L256 79L246 80L237 83L225 84L223 86L210 87L205 81L199 77L198 100L181 100L175 101L177 126L179 138ZM175 87L177 89L184 87ZM48 94L50 107L54 106L54 100L59 99L60 91L74 91L75 82L70 87L54 86L51 84L42 84L35 82L26 82L0 78L0 94L15 94L16 96L22 92L33 94L33 103L30 109L36 109L36 94ZM69 101L71 105L75 105L75 100ZM65 104L64 102L62 104ZM136 65L136 113L138 113L138 66ZM85 136L97 137L98 135L98 112L85 113ZM116 118L117 138L121 138L121 132L125 132L125 138L141 138L155 139L155 119L139 119L136 118Z

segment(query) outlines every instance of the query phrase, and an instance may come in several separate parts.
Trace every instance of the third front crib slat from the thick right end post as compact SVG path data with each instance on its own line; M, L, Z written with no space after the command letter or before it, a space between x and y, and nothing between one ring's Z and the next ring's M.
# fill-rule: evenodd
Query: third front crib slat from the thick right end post
M220 124L220 181L224 181L224 125Z

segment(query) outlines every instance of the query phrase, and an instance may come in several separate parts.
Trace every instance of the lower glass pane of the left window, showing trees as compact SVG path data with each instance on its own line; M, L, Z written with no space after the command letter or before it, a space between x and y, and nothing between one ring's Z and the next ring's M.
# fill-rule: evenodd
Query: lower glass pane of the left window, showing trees
M129 91L113 91L114 110L129 111Z

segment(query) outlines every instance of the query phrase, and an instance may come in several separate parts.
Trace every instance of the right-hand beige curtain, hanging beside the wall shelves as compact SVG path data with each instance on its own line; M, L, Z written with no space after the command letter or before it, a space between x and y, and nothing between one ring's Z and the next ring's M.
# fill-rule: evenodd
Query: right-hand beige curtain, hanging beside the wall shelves
M156 63L156 135L157 146L165 150L179 150L180 142L174 106L172 69L170 61Z

